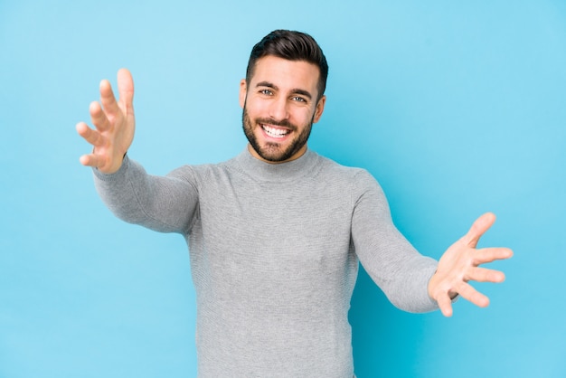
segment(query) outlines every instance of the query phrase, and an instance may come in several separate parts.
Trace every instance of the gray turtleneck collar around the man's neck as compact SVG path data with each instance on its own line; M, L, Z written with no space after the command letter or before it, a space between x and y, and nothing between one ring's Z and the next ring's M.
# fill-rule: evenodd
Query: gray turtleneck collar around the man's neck
M307 149L303 156L287 163L270 164L252 156L246 147L235 157L241 170L258 181L286 182L305 175L312 175L316 167L318 155Z

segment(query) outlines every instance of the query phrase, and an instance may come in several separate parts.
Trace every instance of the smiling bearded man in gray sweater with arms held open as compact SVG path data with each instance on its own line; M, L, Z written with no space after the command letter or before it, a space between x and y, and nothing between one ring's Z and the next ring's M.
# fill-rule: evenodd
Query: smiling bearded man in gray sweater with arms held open
M459 295L485 307L469 280L500 282L482 263L511 257L476 250L495 222L487 213L437 261L396 230L382 189L363 169L307 148L325 109L325 55L305 33L269 33L241 80L249 145L218 165L147 175L127 157L134 137L134 86L118 71L90 105L95 128L77 131L81 156L110 210L127 222L179 232L188 242L197 298L198 372L208 376L352 377L347 313L358 261L401 309L452 314Z

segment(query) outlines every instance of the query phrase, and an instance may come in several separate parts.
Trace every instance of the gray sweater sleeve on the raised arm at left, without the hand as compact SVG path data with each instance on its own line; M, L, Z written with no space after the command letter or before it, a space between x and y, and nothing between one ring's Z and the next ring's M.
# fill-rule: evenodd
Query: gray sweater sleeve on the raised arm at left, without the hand
M198 209L196 186L188 180L175 172L148 175L127 156L114 174L93 172L100 198L119 219L157 232L188 232Z

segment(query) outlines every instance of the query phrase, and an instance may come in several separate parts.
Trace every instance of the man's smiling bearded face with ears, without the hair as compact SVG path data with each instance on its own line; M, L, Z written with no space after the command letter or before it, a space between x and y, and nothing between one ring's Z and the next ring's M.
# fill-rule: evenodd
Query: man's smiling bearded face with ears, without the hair
M256 62L249 85L241 80L242 123L252 156L284 163L307 151L312 125L325 108L325 96L316 100L319 75L315 64L269 55Z

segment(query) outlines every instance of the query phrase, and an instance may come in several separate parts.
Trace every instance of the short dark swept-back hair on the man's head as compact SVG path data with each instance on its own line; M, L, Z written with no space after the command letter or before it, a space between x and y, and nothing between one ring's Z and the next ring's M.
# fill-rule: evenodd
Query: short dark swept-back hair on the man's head
M250 84L251 77L255 71L256 62L260 58L272 55L288 61L307 61L315 64L319 71L318 99L322 98L326 89L326 78L328 77L328 63L325 54L316 43L315 39L307 33L290 30L275 30L256 43L251 49L250 61L246 70L246 81Z

